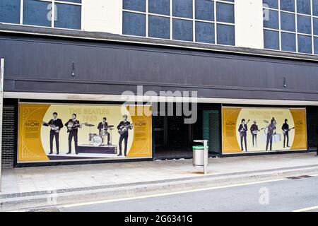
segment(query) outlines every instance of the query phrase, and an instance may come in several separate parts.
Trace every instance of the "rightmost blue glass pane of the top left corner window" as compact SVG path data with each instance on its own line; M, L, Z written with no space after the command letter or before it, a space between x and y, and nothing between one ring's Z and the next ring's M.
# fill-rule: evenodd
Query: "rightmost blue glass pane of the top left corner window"
M81 29L81 6L55 4L55 28Z

